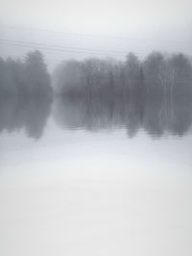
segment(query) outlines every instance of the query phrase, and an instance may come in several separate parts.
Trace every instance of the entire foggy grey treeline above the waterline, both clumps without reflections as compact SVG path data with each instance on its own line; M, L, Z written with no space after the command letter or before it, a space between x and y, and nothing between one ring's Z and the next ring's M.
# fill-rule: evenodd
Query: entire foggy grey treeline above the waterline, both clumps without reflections
M130 53L125 62L96 58L63 62L53 80L61 95L180 101L191 97L192 65L183 54L153 52L140 61ZM0 58L0 95L51 93L51 77L39 51L28 53L25 61Z

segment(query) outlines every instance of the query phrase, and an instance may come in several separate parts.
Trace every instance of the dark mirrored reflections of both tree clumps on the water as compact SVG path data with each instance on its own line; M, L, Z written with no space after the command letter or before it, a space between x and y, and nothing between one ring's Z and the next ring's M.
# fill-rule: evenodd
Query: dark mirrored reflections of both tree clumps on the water
M43 97L2 98L0 133L24 129L29 138L40 139L51 115L52 100ZM141 108L133 101L102 98L56 97L53 115L62 129L102 131L125 128L129 138L143 129L153 138L184 136L192 125L192 101L167 105L148 102Z

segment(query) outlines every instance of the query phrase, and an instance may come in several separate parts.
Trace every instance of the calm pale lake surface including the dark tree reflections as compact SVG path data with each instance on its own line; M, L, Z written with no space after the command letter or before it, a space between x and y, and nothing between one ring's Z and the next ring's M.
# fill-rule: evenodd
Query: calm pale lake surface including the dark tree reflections
M1 104L0 255L192 255L191 109Z

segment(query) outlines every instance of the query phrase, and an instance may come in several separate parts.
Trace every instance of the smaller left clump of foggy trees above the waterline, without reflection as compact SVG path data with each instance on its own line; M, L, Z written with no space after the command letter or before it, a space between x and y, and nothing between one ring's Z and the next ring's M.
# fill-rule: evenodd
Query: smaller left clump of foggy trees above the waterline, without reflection
M23 62L0 58L0 97L49 97L51 93L51 78L39 51L28 53Z

